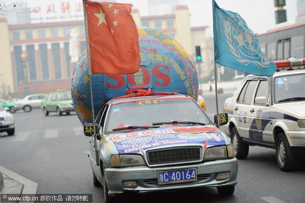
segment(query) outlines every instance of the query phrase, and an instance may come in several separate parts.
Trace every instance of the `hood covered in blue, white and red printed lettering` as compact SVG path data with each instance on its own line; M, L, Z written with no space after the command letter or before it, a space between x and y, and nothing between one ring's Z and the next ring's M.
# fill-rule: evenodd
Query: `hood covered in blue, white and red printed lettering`
M110 134L119 154L138 153L140 150L179 145L198 145L204 148L226 144L223 135L214 126L160 127L156 129Z

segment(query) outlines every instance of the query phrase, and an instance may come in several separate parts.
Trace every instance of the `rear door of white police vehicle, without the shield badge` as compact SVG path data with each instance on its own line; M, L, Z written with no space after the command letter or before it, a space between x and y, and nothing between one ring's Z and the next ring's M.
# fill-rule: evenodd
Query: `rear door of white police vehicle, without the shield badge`
M258 78L245 83L233 107L234 114L238 116L237 127L240 137L249 138L249 114L257 81Z

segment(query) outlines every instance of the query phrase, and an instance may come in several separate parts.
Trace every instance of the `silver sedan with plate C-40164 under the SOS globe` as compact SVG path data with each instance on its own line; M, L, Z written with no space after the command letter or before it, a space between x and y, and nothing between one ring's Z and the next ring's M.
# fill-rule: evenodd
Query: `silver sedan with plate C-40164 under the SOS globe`
M227 114L221 114L226 124ZM105 202L125 191L158 192L216 186L234 192L237 159L231 143L189 96L145 96L105 103L90 140L93 183L104 188Z

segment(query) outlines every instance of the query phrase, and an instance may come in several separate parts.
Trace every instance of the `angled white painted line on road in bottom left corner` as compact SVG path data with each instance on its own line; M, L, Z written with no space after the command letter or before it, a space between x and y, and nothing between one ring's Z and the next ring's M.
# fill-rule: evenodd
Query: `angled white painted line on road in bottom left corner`
M14 180L19 181L20 183L22 183L24 185L23 191L22 191L23 194L36 194L37 183L35 183L31 180L28 180L28 179L20 176L19 174L15 173L15 172L13 172L9 169L6 169L3 166L0 166L0 171L4 175L10 177L11 179L14 179Z

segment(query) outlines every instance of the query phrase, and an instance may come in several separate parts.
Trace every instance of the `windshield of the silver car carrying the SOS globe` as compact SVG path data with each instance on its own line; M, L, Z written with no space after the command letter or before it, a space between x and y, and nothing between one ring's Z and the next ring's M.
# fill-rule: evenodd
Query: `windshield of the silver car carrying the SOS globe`
M171 121L210 123L202 108L192 99L158 98L113 104L108 112L105 131Z

